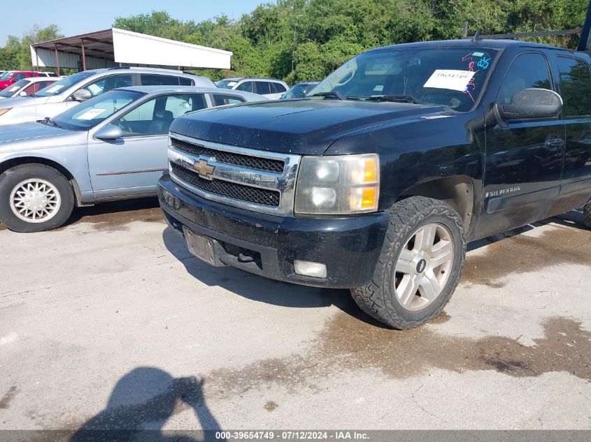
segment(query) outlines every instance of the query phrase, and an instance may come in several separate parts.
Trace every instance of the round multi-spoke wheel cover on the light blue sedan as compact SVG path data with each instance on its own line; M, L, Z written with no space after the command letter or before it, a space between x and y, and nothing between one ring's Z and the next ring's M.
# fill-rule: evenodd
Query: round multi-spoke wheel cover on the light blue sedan
M10 209L27 223L43 223L52 219L60 204L59 191L45 179L26 179L10 193Z

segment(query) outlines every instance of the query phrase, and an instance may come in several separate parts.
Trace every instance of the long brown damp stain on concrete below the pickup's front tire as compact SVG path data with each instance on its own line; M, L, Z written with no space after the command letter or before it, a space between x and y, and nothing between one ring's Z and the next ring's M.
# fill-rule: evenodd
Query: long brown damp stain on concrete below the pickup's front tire
M372 369L394 379L420 376L436 368L457 373L494 370L517 377L566 371L590 381L591 332L577 321L560 317L548 319L543 329L545 336L528 347L507 337L473 340L438 334L429 327L387 330L341 312L327 323L306 355L213 371L206 376L208 395L239 395L269 383L293 390L315 389L322 378L334 373Z

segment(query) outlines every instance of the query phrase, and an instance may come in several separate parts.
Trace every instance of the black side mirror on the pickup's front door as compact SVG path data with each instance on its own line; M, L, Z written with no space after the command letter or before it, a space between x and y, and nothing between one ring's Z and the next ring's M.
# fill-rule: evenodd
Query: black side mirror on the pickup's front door
M562 98L549 89L522 89L509 104L495 105L499 121L529 118L555 118L562 111Z

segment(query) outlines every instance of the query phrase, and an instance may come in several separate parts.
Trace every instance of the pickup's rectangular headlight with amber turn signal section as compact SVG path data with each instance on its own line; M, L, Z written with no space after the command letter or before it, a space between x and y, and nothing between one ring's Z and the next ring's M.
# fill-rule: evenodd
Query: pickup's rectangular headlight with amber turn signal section
M380 197L377 154L304 156L299 163L294 212L376 212Z

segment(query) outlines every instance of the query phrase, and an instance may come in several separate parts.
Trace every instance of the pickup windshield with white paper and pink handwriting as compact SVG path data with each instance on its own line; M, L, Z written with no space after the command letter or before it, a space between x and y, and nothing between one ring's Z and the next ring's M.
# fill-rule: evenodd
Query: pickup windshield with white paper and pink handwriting
M307 96L400 101L470 110L497 50L413 47L364 52L336 69Z

